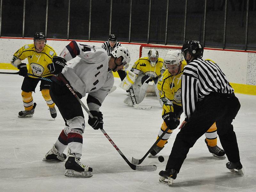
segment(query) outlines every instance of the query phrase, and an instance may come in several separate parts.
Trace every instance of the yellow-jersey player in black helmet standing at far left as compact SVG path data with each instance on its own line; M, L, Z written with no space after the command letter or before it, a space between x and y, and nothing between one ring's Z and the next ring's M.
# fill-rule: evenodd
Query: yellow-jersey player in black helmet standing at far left
M52 74L47 68L47 65L52 63L52 57L56 56L56 52L52 47L46 44L46 37L43 33L35 33L33 40L34 44L24 45L16 51L11 61L11 64L20 70L19 75L24 76L21 86L21 96L25 110L20 111L18 117L33 116L36 103L33 104L32 92L35 92L36 85L41 81L40 91L49 107L52 118L55 118L57 112L49 93L51 82L39 79L35 76L29 76L28 73L50 78ZM28 66L26 63L21 63L21 61L26 58L28 59Z

